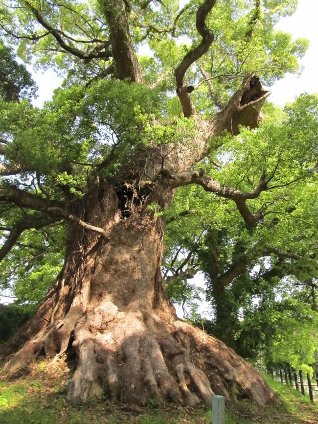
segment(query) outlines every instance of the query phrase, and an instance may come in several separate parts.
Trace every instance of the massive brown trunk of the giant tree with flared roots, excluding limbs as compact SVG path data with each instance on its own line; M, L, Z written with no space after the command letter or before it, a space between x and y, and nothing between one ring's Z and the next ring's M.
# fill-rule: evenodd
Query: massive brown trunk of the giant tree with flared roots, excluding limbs
M5 346L8 354L29 339L4 372L15 375L40 354L75 351L70 401L102 393L141 405L154 399L210 404L214 394L230 400L235 393L259 405L273 400L241 357L177 319L160 272L161 219L147 208L134 215L122 196L123 190L95 184L81 212L105 234L70 227L64 270L35 317Z

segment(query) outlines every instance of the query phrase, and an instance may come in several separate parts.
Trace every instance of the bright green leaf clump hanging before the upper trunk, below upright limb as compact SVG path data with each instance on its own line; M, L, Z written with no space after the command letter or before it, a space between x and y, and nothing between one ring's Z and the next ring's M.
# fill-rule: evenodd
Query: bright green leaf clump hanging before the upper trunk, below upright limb
M90 127L91 137L99 140L96 158L101 161L114 149L115 159L107 172L118 172L144 146L187 142L192 119L169 118L168 108L169 100L159 90L104 80L92 84L83 97L79 122Z

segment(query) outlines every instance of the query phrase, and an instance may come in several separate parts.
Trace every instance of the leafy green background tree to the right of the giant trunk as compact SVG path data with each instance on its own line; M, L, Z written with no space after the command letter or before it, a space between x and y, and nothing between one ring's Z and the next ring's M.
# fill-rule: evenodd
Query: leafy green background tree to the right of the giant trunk
M241 178L240 185L248 186L262 170L272 174L272 188L262 195L259 205L262 217L257 227L250 231L230 202L211 199L197 188L190 193L179 191L167 219L168 293L183 306L190 299L193 302L186 279L204 272L206 297L214 314L211 323L205 320L205 329L250 359L265 349L265 339L271 349L275 331L270 317L273 309L275 316L282 310L275 298L281 296L284 278L289 277L298 299L301 292L306 293L303 307L311 305L317 310L317 97L300 96L286 107L285 115L271 108L260 129L253 134L243 131L223 142L218 158L210 158L206 165L219 181L230 179L232 184ZM284 298L287 304L294 303L295 298L287 301L286 294ZM272 310L269 315L267 306ZM199 323L193 305L188 307L192 313L188 317ZM309 356L310 364L313 357Z

